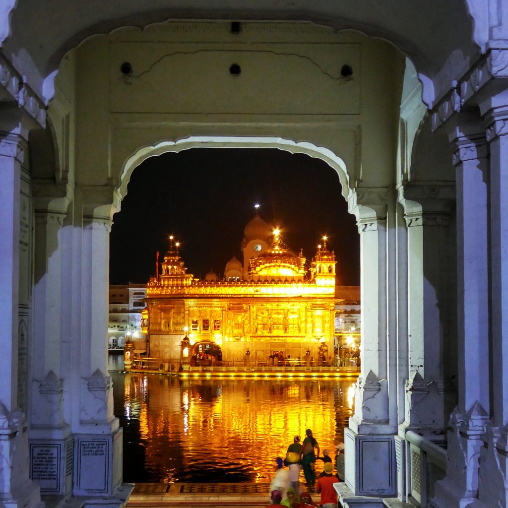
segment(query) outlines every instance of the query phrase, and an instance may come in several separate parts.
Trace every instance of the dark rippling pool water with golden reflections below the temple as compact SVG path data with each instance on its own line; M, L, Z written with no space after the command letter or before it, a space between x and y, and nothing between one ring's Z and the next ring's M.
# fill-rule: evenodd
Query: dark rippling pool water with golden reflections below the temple
M353 380L111 376L125 482L270 482L307 428L335 459L353 415Z

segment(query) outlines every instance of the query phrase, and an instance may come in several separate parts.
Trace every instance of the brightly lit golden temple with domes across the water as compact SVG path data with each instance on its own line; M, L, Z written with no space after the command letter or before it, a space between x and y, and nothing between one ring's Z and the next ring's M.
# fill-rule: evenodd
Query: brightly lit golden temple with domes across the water
M190 365L275 363L330 365L335 317L335 253L327 238L306 263L257 213L244 229L243 264L233 257L224 278L187 273L179 242L147 284L142 332L147 354L179 363L182 339ZM272 357L272 358L270 358Z

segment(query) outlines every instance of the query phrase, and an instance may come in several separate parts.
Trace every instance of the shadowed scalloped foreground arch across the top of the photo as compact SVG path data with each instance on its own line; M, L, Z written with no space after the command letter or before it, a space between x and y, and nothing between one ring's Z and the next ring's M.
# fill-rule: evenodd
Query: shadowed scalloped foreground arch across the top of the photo
M3 0L3 9L8 11L15 3ZM4 17L7 23L8 16ZM310 20L336 29L358 29L391 41L414 61L420 75L434 82L460 76L470 58L479 54L464 0L53 0L51 4L18 0L3 49L38 90L37 82L56 70L62 56L86 37L171 18ZM1 33L7 35L6 26ZM436 96L443 86L437 85Z

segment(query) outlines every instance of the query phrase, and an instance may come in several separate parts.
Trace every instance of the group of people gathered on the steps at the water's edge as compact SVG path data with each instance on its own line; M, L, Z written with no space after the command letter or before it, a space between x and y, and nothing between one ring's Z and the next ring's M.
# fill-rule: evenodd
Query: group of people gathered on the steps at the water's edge
M317 453L316 453L317 452ZM328 450L321 449L312 430L305 431L305 438L300 442L300 436L293 438L288 447L285 460L277 457L276 472L270 485L272 504L267 508L285 506L289 508L307 508L315 506L310 492L321 495L320 506L323 508L336 508L338 499L333 484L344 481L344 443L337 445L335 467L337 474L333 474L334 463ZM315 463L322 460L323 472L317 477ZM285 469L287 466L288 469ZM300 484L300 471L303 469L306 489Z

